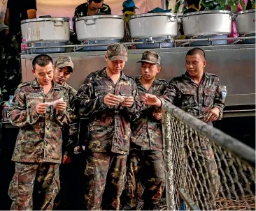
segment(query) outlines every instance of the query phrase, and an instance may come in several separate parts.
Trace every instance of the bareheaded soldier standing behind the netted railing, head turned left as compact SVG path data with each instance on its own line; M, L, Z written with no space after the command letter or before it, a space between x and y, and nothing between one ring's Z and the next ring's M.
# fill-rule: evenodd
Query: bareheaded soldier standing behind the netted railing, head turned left
M169 97L171 103L183 111L211 125L213 121L222 118L225 95L222 95L218 76L204 72L205 66L204 50L200 48L190 49L186 55L187 71L185 74L171 79L166 96ZM193 144L192 141L189 142ZM187 146L186 150L189 149L191 150L192 146ZM200 137L198 143L195 144L195 150L197 152L192 152L192 156L197 153L201 165L205 163L206 166L203 171L205 174L208 171L208 178L211 181L211 187L208 188L210 192L217 194L220 187L220 177L211 143Z

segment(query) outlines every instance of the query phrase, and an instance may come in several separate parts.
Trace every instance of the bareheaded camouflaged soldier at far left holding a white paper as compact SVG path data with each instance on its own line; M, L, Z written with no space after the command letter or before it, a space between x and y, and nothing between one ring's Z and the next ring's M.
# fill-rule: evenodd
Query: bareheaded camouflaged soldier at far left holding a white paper
M69 95L53 79L52 58L33 60L34 81L20 84L8 110L12 125L20 127L13 158L15 174L10 182L11 210L32 210L33 190L43 193L41 210L52 210L59 192L59 163L62 159L62 127L71 123ZM59 100L54 106L46 104ZM35 209L36 210L36 209Z

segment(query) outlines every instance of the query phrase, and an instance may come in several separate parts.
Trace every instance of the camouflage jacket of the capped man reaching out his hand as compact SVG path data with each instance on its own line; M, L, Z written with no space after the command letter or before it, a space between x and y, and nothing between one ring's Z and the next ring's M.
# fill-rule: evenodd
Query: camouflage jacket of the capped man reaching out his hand
M140 82L141 77L136 78L136 84L138 86L138 97L141 99L141 95L150 93L156 95L164 100L164 91L168 85L164 79L155 79L150 89L147 91ZM154 106L148 106L141 101L141 115L133 123L131 123L131 146L130 149L141 150L157 150L162 151L162 121L157 120L152 116L154 111L159 108Z

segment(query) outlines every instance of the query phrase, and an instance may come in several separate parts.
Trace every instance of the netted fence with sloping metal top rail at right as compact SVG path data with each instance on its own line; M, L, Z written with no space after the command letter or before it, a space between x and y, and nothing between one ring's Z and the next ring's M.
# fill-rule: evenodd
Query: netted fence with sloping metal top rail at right
M255 150L172 104L163 108L168 210L255 210Z

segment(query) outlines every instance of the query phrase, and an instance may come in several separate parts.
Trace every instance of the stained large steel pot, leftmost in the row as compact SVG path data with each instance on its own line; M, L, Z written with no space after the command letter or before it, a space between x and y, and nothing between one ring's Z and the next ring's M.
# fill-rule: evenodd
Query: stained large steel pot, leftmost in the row
M21 22L22 38L27 42L69 41L69 18L39 17Z

